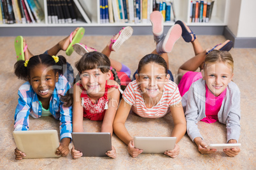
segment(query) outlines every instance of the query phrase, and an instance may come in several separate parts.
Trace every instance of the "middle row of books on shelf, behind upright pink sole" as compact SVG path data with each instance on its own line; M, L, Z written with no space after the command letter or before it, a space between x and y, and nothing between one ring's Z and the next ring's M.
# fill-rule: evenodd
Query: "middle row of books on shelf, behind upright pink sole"
M168 0L100 0L100 23L148 23L155 10L161 11L168 22L171 6Z

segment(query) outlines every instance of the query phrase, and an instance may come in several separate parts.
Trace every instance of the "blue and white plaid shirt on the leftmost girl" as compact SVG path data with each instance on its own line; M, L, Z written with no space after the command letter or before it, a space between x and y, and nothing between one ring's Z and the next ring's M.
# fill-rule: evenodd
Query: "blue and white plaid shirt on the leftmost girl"
M69 88L71 86L66 77L60 76L50 98L50 113L55 119L60 121L60 140L62 138L72 139L72 106L64 107L64 102L60 100L60 95L64 96ZM42 107L39 104L38 95L36 95L31 84L27 81L18 89L18 105L15 110L14 130L29 130L29 115L38 119L41 117L41 114Z

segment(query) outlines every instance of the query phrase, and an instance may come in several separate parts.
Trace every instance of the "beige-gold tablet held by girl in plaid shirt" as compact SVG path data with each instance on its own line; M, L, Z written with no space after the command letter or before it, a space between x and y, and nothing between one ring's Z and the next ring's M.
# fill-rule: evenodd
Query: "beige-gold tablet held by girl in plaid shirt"
M56 130L13 131L18 150L25 153L24 159L60 157L55 155L59 147Z

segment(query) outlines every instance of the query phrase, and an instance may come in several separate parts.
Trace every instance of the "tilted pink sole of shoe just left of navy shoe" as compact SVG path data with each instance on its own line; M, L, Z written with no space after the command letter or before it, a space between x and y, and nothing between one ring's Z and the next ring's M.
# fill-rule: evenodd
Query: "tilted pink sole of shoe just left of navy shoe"
M171 53L175 42L180 39L181 34L182 29L178 24L173 25L173 27L168 30L162 44L162 49L164 50L164 53Z

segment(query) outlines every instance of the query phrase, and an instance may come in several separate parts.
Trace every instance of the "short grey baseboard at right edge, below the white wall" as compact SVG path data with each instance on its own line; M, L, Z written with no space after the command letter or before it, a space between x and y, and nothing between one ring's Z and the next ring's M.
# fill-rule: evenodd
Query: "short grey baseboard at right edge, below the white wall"
M224 28L224 36L234 42L234 48L256 48L256 37L236 37L228 27Z

